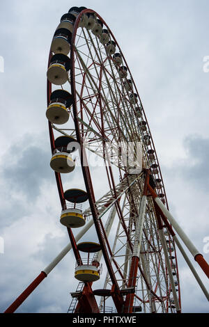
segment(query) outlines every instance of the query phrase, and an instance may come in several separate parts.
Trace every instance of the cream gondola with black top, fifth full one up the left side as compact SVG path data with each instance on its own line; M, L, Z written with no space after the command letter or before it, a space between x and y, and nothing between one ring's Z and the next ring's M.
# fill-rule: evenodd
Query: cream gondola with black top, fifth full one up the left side
M55 85L63 85L68 81L68 70L70 70L70 58L65 54L54 54L47 70L47 78Z

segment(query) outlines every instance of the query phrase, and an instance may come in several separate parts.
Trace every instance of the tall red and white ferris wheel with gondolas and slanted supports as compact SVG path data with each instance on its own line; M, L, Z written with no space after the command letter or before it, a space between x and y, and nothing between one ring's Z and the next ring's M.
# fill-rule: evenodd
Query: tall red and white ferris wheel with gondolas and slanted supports
M208 298L176 233L207 275L208 264L169 212L134 79L93 10L72 7L61 17L49 52L46 115L70 244L6 312L69 250L77 287L68 312L181 312L176 245Z

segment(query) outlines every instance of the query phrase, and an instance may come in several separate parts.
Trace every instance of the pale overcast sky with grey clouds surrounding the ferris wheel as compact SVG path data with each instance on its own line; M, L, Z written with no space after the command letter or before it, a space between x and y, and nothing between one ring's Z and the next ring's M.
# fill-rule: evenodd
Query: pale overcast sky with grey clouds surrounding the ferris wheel
M208 0L3 1L1 312L69 242L59 223L45 111L52 35L72 6L95 10L114 33L144 105L169 208L201 253L209 237L209 72L203 72L203 58L209 56ZM72 187L76 183L73 177ZM209 261L209 253L203 254ZM208 312L179 253L178 262L183 312ZM66 312L75 290L74 264L69 253L17 312Z

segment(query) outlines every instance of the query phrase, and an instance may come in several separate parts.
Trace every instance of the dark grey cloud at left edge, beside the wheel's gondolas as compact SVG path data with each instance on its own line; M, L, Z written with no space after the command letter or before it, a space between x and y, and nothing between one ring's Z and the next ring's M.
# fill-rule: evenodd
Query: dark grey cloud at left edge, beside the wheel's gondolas
M53 173L49 166L49 148L26 145L30 137L25 136L24 143L13 145L6 153L6 166L1 166L1 176L10 191L24 193L27 200L34 201L40 192L40 186L45 180L52 180Z

